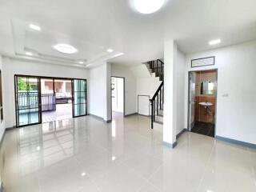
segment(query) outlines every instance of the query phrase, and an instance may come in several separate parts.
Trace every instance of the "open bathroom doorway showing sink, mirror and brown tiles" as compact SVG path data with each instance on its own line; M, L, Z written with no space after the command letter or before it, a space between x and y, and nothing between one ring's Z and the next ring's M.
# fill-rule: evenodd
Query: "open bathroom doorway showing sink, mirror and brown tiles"
M217 77L217 70L189 72L188 127L190 132L215 137Z

